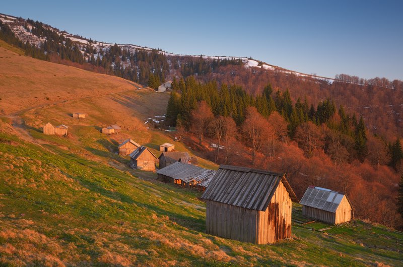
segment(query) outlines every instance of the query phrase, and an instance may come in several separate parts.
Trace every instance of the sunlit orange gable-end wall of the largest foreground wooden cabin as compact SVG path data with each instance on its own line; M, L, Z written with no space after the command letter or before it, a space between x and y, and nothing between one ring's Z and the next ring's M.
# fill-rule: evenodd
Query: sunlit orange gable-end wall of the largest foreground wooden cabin
M284 184L280 182L266 211L258 211L256 243L274 243L290 237L291 213L291 198Z

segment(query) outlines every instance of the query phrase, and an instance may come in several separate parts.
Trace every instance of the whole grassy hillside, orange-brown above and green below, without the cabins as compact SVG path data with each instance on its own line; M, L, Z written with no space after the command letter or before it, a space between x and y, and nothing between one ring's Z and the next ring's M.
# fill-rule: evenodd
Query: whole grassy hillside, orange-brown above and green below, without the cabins
M293 207L293 237L274 245L205 234L206 206L199 201L199 192L158 182L154 173L129 169L128 157L115 154L117 142L127 137L156 154L159 144L173 142L169 133L144 124L165 112L168 94L134 90L132 84L125 90L124 80L78 70L77 75L85 78L77 88L96 90L93 83L104 85L95 97L64 99L75 86L58 90L47 86L76 69L7 50L2 53L19 58L16 72L29 64L33 72L46 72L49 66L57 70L56 76L24 79L35 84L34 92L59 95L62 100L31 103L26 99L31 87L8 80L23 98L14 105L18 97L0 81L4 96L0 103L13 103L10 110L17 112L0 120L0 265L403 264L403 233L358 220L330 228L308 223L299 205ZM71 76L65 84L78 83L74 80ZM88 118L72 118L76 111L88 113ZM47 121L69 125L69 137L44 136L41 127ZM98 129L110 123L118 123L122 131L102 135ZM175 146L193 153L179 142ZM201 165L217 168L207 160Z

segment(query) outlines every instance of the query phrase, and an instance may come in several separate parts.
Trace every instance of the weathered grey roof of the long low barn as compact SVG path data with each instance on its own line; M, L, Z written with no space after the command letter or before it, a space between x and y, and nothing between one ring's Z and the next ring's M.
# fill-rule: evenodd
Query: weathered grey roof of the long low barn
M181 162L175 162L158 170L157 173L187 183L193 180L196 182L210 180L216 174L216 171Z

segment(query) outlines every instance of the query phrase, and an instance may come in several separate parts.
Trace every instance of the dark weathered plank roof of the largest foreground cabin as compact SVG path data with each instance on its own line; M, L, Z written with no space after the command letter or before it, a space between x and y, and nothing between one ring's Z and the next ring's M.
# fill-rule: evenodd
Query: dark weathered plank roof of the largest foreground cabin
M221 165L201 198L250 210L265 211L279 183L298 202L285 174Z

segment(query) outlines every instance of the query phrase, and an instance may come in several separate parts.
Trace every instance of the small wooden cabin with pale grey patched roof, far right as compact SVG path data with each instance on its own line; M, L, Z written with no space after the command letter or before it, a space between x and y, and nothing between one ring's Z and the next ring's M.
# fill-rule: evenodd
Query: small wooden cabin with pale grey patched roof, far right
M353 218L354 209L346 194L309 186L301 199L302 215L328 224L340 224Z

